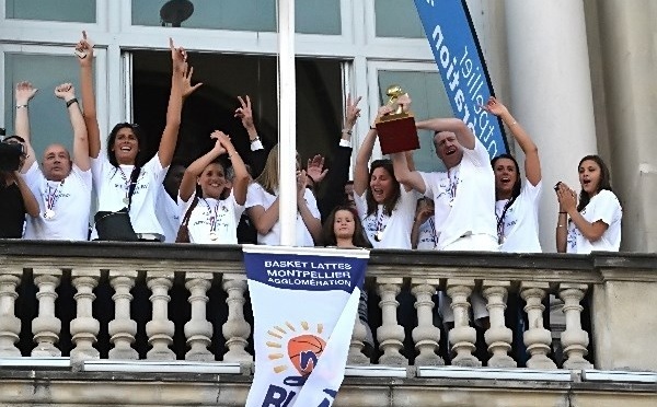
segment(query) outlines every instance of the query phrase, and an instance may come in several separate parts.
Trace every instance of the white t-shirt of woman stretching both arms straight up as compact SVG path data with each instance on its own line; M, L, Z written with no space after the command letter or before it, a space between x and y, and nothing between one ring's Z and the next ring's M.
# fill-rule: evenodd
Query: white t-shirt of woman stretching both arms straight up
M132 168L134 165L115 167L110 163L104 151L101 151L97 159L91 159L93 185L99 197L99 211L117 211L128 206L124 199L128 196ZM163 234L164 231L155 217L155 201L165 175L166 168L160 163L158 154L141 167L130 206L130 222L136 233ZM97 233L94 228L91 239L96 237Z

